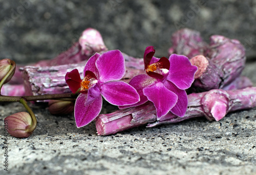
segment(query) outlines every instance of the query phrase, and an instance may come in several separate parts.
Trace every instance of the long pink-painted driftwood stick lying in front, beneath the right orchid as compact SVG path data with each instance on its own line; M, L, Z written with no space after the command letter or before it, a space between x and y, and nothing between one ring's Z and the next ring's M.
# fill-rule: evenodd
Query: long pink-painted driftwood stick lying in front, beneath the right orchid
M163 123L176 123L188 118L205 116L209 120L220 120L228 112L249 109L256 106L256 87L241 90L215 89L188 95L188 107L184 117L168 113L156 119L156 109L152 103L122 109L110 114L101 114L96 120L98 135L109 135L147 124L155 127Z

